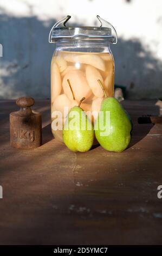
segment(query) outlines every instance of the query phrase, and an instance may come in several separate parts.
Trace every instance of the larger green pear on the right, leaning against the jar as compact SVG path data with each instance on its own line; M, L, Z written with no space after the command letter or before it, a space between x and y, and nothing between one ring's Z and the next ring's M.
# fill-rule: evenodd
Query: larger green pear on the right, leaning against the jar
M96 139L104 149L122 152L128 147L131 140L131 120L114 97L106 97L102 101L94 130Z

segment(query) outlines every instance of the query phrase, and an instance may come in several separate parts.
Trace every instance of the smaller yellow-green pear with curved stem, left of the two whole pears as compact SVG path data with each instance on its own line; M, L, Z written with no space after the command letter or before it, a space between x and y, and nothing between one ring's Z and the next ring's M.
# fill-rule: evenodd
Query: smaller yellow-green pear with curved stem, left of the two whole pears
M66 146L74 152L86 152L92 145L94 140L93 125L87 115L79 106L70 109L68 117L63 127L63 141Z

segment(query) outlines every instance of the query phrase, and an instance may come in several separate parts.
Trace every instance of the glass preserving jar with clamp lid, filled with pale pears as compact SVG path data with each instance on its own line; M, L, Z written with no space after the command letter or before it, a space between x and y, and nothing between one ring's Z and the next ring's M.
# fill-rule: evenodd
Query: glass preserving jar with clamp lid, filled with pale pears
M103 97L114 96L114 59L109 43L116 44L117 34L109 22L97 17L100 27L66 27L67 16L49 34L49 42L56 42L51 60L51 130L61 142L67 114L82 97L81 108L95 123Z

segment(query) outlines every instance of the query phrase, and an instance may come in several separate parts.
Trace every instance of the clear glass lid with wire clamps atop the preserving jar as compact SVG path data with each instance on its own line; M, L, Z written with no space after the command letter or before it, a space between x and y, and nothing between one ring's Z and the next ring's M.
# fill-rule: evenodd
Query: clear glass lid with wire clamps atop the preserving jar
M49 33L50 44L64 38L101 38L108 39L110 42L112 42L112 44L116 44L118 41L118 35L115 28L111 25L111 23L103 20L99 15L96 17L101 23L100 27L66 27L66 23L70 17L70 15L67 15L62 20L56 22L51 28Z

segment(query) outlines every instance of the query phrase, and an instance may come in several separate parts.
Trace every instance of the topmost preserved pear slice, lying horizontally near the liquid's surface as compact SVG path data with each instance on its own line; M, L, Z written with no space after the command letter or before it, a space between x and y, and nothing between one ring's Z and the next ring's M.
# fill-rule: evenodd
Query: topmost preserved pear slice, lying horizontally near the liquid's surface
M82 63L94 66L96 69L105 71L105 63L96 54L64 54L67 62Z

